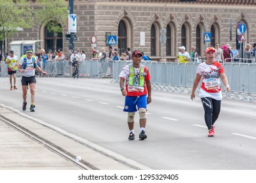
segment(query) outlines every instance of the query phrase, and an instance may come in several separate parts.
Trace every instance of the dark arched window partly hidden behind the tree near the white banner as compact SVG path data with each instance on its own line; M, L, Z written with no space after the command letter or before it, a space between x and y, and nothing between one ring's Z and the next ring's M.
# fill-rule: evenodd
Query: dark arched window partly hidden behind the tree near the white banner
M58 26L61 27L60 24L58 24ZM49 31L47 29L47 26L45 26L45 51L46 52L48 52L49 50L52 50L54 52L55 41L56 41L56 50L58 50L58 48L63 48L62 32L58 33L56 40L55 40L53 32Z

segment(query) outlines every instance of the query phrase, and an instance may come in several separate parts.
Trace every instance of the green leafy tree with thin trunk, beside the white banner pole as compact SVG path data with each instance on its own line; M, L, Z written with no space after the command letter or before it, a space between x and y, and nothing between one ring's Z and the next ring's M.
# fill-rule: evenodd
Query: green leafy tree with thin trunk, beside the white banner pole
M35 21L47 26L47 30L54 36L54 51L58 33L62 33L63 25L66 25L68 18L68 5L65 0L39 0L39 8L35 12Z

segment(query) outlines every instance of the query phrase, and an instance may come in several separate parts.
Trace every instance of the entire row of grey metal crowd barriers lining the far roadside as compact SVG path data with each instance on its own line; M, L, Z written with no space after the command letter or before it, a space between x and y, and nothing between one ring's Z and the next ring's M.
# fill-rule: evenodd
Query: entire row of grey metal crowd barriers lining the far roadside
M247 60L246 60L247 61ZM102 78L111 77L112 83L119 81L121 69L131 61L91 60L82 61L79 67L80 77ZM200 63L165 63L142 61L151 75L152 88L168 92L190 93ZM70 61L47 61L43 65L48 76L72 76ZM224 62L223 67L231 87L231 92L223 90L223 96L231 99L256 101L256 63ZM0 62L0 76L7 75L7 64ZM17 76L21 76L17 72ZM222 85L222 88L224 86ZM196 93L199 92L199 88Z

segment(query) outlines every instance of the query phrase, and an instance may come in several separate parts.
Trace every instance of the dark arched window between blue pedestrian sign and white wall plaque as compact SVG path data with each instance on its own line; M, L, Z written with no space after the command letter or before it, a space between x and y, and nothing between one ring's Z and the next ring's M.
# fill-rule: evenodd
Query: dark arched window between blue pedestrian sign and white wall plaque
M127 48L127 27L123 20L118 25L118 52L119 54L125 52Z

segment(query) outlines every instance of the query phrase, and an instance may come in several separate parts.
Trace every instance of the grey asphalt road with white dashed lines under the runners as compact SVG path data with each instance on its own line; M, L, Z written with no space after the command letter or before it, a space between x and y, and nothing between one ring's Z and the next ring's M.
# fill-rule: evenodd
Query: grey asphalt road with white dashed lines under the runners
M215 137L207 137L202 103L185 93L152 91L146 134L128 141L124 97L111 79L37 78L35 112L26 114L152 169L256 169L256 105L223 99ZM18 90L0 78L0 103L22 110ZM28 94L30 105L30 93Z

